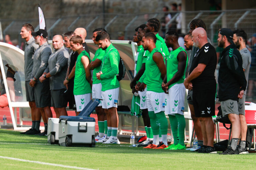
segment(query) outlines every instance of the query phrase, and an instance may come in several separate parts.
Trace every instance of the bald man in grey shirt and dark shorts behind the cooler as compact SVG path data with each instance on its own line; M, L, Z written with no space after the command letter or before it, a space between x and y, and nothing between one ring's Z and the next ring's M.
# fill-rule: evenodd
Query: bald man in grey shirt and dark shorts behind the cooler
M68 116L66 111L67 101L64 96L67 88L64 86L63 81L66 78L68 69L69 53L63 46L61 35L53 37L53 48L55 52L49 56L48 66L39 80L43 82L46 78L50 78L51 103L56 117L59 118L60 116Z

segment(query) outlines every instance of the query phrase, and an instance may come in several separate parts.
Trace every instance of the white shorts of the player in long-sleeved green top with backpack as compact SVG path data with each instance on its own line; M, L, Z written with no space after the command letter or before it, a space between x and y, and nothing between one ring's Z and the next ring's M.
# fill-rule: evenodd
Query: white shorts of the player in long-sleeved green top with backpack
M116 107L118 106L118 95L119 95L119 87L106 90L106 91L101 91L101 96L102 96L102 108L111 108L111 107Z

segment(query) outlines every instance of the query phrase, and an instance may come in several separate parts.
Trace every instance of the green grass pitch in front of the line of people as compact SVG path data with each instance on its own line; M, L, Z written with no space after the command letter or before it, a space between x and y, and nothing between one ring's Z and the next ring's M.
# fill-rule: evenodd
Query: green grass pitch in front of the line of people
M24 143L24 144L20 144ZM42 145L30 145L42 144ZM46 145L44 145L46 144ZM95 148L47 145L47 137L0 130L0 156L92 169L255 169L256 154L218 155L190 151L96 144ZM0 158L0 169L65 169ZM68 168L66 168L68 169Z

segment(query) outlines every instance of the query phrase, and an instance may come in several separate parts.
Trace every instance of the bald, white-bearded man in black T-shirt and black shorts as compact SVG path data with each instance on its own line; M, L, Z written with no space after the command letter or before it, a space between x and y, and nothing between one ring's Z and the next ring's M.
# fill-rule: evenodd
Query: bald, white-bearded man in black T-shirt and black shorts
M199 50L184 81L187 89L193 89L193 105L195 116L199 118L203 146L199 153L217 153L213 147L215 115L216 80L214 72L217 64L215 48L208 42L207 33L203 28L196 28L192 32L192 41Z

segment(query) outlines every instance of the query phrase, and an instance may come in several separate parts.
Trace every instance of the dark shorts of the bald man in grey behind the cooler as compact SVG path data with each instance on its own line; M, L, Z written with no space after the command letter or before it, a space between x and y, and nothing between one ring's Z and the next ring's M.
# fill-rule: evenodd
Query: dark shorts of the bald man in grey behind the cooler
M66 89L51 90L52 107L67 107L68 101L64 94L65 91Z

